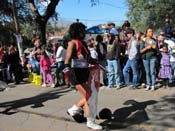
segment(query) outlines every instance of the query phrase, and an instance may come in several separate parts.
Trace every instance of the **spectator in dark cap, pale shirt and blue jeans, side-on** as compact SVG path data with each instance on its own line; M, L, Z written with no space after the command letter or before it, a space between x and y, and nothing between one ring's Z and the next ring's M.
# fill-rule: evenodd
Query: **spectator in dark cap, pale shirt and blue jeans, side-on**
M132 88L137 88L139 85L138 82L138 64L137 64L137 55L138 55L138 49L137 45L138 42L136 38L134 37L134 30L131 28L128 28L126 31L127 37L128 37L128 48L127 48L127 53L128 53L128 60L126 62L126 65L124 66L123 69L123 75L124 75L124 80L125 80L125 85L132 87ZM130 83L130 74L129 70L132 69L133 73L133 80L132 83Z

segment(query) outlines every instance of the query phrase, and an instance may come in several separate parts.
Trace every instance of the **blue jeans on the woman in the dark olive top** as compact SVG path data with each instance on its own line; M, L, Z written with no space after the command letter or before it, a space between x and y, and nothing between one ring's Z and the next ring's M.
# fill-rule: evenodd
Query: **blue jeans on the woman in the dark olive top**
M149 86L156 84L156 58L143 60L143 65L146 72L146 83Z

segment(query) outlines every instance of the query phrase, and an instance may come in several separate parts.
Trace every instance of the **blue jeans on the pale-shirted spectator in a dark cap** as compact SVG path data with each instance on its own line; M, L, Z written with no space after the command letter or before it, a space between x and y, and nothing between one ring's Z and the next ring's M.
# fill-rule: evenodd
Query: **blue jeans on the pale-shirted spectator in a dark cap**
M134 85L134 87L137 87L139 85L138 79L139 79L139 75L138 75L138 65L137 65L137 60L133 59L133 60L129 60L126 62L126 65L123 69L123 75L124 75L124 80L125 80L125 84L129 85L130 84L130 73L129 70L130 68L132 69L132 73L133 73L133 80L132 80L132 84Z

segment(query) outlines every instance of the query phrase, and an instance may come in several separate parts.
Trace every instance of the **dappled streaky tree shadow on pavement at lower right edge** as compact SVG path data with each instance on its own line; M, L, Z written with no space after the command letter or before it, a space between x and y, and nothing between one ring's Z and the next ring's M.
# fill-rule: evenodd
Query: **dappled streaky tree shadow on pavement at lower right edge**
M153 105L148 111L150 120L148 124L172 128L175 131L175 94L164 96L162 100Z

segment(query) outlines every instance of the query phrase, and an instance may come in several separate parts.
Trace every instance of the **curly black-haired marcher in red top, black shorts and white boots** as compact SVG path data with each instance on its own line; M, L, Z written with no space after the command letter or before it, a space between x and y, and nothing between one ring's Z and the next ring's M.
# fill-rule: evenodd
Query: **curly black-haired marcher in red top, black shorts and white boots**
M82 23L73 23L69 28L69 34L71 41L68 42L65 59L65 77L69 76L70 82L75 85L75 88L82 94L80 99L75 105L68 109L67 113L70 116L76 115L82 108L87 117L87 127L94 130L101 130L102 126L95 123L95 114L93 114L91 107L96 106L96 103L88 103L93 90L89 89L86 85L89 78L89 63L94 64L94 60L90 58L90 52L88 51L87 45L83 42L85 37L86 26ZM71 69L70 69L71 68Z

